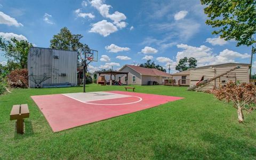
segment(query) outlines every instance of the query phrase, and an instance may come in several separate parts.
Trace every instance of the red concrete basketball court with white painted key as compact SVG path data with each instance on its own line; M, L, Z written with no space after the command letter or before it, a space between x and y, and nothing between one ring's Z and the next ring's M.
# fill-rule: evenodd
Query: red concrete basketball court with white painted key
M35 95L31 98L44 114L53 132L182 99L122 91Z

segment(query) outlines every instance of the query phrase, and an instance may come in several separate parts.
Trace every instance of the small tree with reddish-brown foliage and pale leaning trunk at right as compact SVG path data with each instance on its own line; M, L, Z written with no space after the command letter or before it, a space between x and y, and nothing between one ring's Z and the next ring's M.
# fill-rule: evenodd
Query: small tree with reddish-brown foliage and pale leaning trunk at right
M239 85L230 81L226 86L213 91L219 100L233 102L233 107L237 109L238 122L244 121L243 110L251 113L256 109L256 86L251 83L241 83Z

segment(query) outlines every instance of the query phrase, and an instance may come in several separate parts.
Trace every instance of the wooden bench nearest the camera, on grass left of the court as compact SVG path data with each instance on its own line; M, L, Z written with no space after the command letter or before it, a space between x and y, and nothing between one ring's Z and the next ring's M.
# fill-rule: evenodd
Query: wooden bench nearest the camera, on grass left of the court
M10 114L10 120L15 120L17 119L17 133L23 134L23 118L28 118L29 117L29 110L28 110L28 105L23 104L23 105L13 105L12 111Z

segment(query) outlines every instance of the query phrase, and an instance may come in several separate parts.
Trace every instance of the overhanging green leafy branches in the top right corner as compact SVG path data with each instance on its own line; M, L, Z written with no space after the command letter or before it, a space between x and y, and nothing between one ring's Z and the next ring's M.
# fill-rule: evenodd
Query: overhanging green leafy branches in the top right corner
M207 25L218 27L212 34L220 34L226 41L235 39L237 46L253 45L256 33L255 0L201 0L204 12L210 19Z

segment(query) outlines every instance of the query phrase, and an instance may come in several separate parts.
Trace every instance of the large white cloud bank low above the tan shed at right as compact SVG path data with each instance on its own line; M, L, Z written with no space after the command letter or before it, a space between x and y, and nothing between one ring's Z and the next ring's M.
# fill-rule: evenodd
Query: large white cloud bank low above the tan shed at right
M184 57L193 57L197 60L198 66L236 62L237 58L250 58L250 55L247 53L242 54L228 49L221 51L219 54L214 54L212 49L205 45L195 47L189 46L187 44L179 44L177 47L182 49L182 51L178 52L176 55L177 62L179 62L179 60Z

